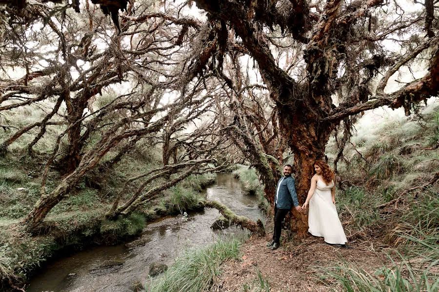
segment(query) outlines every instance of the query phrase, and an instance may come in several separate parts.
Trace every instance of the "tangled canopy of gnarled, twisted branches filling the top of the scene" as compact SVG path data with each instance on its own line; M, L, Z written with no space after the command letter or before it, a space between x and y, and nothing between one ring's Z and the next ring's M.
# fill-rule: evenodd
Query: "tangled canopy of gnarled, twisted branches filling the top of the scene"
M38 129L32 153L48 127L63 128L45 167L62 165L65 178L51 194L43 180L32 226L103 167L109 149L124 144L121 157L140 139L160 140L163 167L184 148L174 163L190 172L229 149L229 159L258 169L269 201L291 151L302 202L340 125L342 150L358 114L382 106L411 114L439 91L433 0L1 3L0 110L47 112L13 131L2 151ZM391 84L404 73L411 77ZM193 121L198 130L181 135ZM114 210L129 208L118 203ZM293 227L303 232L306 219L297 217Z

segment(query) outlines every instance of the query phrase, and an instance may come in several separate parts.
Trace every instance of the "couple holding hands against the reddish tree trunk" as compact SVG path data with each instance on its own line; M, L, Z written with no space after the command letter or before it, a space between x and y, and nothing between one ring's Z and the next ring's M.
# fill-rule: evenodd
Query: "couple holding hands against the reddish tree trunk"
M303 213L309 204L308 232L314 236L324 237L326 243L344 245L347 242L339 215L335 206L334 172L328 164L318 160L314 163L315 174L311 179L311 187L303 206L297 200L294 178L291 176L293 167L287 164L283 167L283 177L278 182L274 200L274 233L273 240L267 244L272 250L280 246L282 220L294 208Z

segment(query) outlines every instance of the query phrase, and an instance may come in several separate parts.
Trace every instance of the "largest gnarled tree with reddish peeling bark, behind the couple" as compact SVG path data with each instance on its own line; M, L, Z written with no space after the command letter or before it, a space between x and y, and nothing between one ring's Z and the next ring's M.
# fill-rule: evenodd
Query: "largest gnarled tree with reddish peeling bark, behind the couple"
M95 2L107 13L105 5L113 5L112 11L126 5L123 0ZM217 82L216 108L227 104L233 113L224 116L218 110L222 125L238 148L251 152L246 155L259 170L269 201L283 141L294 152L303 202L313 163L324 157L329 137L340 124L348 129L357 114L382 106L402 107L410 114L419 102L438 94L437 1L174 2L160 2L162 12L154 14L134 12L137 2L128 4L128 14L119 15L119 37L130 36L124 32L125 22L161 19L169 24L169 42L184 48L185 54L168 52L180 66L164 75L161 84L184 93L191 81L201 80L205 86ZM191 16L185 8L194 3L200 10ZM75 1L73 6L78 5ZM237 66L239 62L243 66ZM256 74L249 73L252 66ZM404 68L417 75L408 83L388 86ZM239 79L241 73L245 75ZM249 94L255 86L267 94ZM273 118L258 110L266 97L269 105L262 108L273 108ZM279 144L270 145L275 139ZM306 218L297 215L292 227L305 234Z

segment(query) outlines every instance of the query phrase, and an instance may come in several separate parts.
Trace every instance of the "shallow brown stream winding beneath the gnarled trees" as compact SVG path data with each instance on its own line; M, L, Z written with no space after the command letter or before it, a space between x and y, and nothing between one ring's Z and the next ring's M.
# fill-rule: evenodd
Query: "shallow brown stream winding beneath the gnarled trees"
M205 192L208 200L220 201L238 215L253 220L262 218L256 198L242 190L232 174L218 174L215 184ZM134 282L145 283L148 279L150 263L170 266L185 248L208 245L223 235L246 233L235 226L212 231L210 226L219 216L216 209L205 208L189 214L187 221L181 215L165 217L145 227L139 237L140 246L99 246L58 258L31 279L26 291L130 292Z

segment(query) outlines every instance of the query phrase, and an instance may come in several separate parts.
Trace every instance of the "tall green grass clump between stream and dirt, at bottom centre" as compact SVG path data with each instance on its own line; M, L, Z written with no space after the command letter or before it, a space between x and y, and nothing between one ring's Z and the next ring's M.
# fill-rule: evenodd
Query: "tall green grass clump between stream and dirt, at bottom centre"
M226 259L238 258L239 246L237 239L218 239L205 248L187 251L176 259L161 278L152 282L149 291L211 291L221 274L220 264Z

